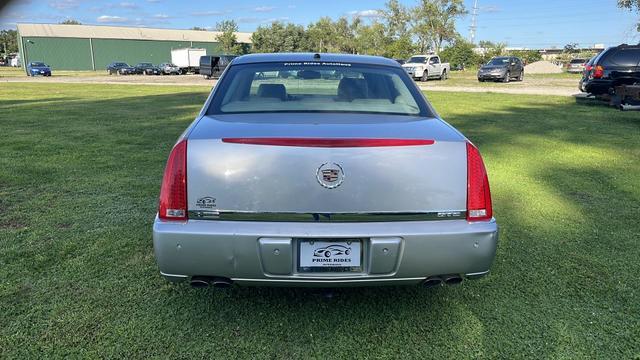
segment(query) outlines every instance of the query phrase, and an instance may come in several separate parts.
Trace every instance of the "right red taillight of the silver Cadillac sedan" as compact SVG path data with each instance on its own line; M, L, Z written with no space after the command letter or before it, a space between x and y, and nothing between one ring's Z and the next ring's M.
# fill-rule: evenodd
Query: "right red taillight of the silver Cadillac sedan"
M480 151L467 142L467 220L491 220L491 191Z

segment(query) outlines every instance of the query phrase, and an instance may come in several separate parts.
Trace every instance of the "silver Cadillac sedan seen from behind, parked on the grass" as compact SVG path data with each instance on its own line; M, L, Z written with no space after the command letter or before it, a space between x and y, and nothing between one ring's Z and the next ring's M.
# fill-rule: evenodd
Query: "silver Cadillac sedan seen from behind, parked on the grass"
M498 241L478 149L390 59L233 60L173 147L153 225L170 281L457 284Z

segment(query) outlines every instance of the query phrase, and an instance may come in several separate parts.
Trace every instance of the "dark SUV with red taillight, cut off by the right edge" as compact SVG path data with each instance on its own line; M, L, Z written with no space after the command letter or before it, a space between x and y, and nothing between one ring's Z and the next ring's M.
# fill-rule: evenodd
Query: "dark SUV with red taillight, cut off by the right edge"
M635 83L640 83L640 44L622 44L600 53L583 86L588 93L603 95L614 94L616 86Z

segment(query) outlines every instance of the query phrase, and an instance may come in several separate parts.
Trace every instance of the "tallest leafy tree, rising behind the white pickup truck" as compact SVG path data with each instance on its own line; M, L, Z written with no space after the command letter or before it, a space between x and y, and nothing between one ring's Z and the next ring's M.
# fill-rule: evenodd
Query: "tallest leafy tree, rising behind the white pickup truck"
M439 52L444 42L455 40L455 21L466 13L463 0L421 0L412 10L420 50L430 47Z

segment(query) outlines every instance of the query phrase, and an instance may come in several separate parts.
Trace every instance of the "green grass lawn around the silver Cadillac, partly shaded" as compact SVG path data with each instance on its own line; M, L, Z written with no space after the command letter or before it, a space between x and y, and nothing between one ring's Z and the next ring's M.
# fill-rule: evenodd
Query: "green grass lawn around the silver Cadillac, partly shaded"
M169 149L204 87L0 88L0 358L640 357L640 116L428 93L483 152L501 238L458 287L195 290L158 274Z

